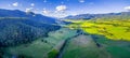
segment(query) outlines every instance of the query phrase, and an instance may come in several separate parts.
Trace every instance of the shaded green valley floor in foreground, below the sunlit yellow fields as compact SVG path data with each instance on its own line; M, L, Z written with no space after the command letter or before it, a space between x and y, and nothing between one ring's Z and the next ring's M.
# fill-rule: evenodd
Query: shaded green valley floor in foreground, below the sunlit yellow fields
M126 41L62 28L50 32L48 38L4 50L9 57L18 58L129 58L129 48Z

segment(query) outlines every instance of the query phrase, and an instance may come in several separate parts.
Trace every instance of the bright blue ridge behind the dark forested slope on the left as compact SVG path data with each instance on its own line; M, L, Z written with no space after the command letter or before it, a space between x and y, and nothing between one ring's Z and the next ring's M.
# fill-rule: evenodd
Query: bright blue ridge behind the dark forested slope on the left
M47 17L41 14L35 14L32 12L23 12L18 10L2 10L0 9L0 17L25 17L26 19L31 19L35 21L40 21L44 24L55 24L55 18Z

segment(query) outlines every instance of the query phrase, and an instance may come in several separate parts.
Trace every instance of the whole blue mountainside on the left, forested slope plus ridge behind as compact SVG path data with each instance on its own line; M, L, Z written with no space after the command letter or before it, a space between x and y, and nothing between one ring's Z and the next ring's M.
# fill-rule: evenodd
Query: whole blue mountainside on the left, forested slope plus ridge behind
M48 37L50 31L61 28L52 25L55 23L54 18L31 12L0 10L0 46L15 46Z

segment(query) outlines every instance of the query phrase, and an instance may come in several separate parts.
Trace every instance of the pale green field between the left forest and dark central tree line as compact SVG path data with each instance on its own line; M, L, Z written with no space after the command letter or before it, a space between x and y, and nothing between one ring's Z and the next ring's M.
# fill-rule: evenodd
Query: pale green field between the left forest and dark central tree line
M21 56L25 58L53 58L58 53L58 45L61 42L75 34L75 30L63 28L50 32L48 38L41 38L32 43L15 47L8 47L5 52L12 56Z

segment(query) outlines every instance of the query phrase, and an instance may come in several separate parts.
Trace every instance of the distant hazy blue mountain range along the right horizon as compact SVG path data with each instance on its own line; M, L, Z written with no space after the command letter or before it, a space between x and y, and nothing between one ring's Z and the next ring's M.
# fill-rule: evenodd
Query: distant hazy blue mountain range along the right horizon
M67 16L63 19L93 19L93 18L102 18L102 17L129 16L129 15L130 12L107 13L107 14L80 14L75 16Z

